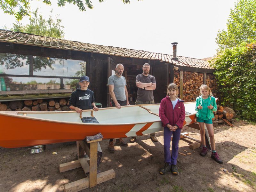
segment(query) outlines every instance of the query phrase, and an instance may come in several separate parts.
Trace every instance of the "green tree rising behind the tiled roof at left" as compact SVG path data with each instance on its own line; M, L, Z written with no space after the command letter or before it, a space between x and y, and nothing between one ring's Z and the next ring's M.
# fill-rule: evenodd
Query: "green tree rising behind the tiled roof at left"
M52 16L50 16L48 19L44 19L43 15L38 12L38 8L36 8L36 11L33 12L33 15L29 18L29 21L30 23L25 26L22 26L19 21L13 23L13 28L11 28L11 30L48 37L64 37L64 27L61 25L61 20L58 18L54 20Z

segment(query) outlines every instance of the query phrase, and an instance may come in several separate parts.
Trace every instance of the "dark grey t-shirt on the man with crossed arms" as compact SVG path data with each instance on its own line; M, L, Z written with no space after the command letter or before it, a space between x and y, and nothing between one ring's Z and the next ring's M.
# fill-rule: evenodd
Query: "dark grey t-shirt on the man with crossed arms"
M136 82L141 82L141 83L156 83L156 79L153 75L148 75L144 76L143 74L139 74L136 76ZM153 90L145 90L138 88L138 95L137 95L137 100L139 101L152 101L154 100L153 96Z

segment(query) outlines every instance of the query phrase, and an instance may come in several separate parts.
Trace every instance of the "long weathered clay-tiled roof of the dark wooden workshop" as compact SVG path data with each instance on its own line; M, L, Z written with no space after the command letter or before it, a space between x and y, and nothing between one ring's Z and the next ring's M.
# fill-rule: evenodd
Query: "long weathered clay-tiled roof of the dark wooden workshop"
M177 56L179 58L179 61L175 61L175 60L172 60L172 55L167 55L167 54L139 51L134 49L120 48L120 47L81 43L78 41L70 41L70 40L58 39L53 37L38 36L34 34L14 32L14 31L9 31L4 29L0 29L0 42L36 45L36 46L50 47L55 49L93 52L93 53L101 53L101 54L115 55L115 56L122 56L122 57L132 57L132 58L138 58L138 59L160 60L164 62L173 63L176 66L212 69L209 66L209 62L206 60Z

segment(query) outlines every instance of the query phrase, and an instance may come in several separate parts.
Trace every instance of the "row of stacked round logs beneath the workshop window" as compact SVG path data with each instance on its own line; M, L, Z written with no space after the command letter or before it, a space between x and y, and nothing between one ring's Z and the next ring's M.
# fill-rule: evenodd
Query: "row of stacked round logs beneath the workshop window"
M38 99L0 102L0 111L69 111L68 99Z

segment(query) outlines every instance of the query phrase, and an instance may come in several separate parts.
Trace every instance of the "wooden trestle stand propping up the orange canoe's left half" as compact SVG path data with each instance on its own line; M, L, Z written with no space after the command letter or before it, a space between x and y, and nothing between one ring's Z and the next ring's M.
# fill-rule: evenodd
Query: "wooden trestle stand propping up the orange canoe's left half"
M92 188L97 184L105 182L107 180L116 177L116 173L113 169L97 174L97 149L98 141L102 139L92 141L76 141L78 160L68 163L60 164L60 172L69 171L82 167L85 173L89 172L89 176L71 183L64 185L64 191L75 192L86 188ZM89 156L84 158L84 152ZM88 162L89 164L88 164Z

